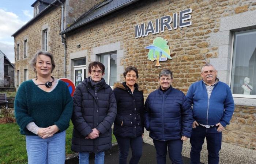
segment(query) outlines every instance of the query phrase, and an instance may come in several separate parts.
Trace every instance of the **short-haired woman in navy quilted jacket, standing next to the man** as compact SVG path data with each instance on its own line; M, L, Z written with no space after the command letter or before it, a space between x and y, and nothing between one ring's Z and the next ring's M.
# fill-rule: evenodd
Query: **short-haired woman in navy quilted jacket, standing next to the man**
M172 87L170 70L159 73L159 89L150 93L145 102L144 125L150 131L157 151L157 164L166 163L167 148L173 164L182 164L182 144L191 136L192 109L180 90Z

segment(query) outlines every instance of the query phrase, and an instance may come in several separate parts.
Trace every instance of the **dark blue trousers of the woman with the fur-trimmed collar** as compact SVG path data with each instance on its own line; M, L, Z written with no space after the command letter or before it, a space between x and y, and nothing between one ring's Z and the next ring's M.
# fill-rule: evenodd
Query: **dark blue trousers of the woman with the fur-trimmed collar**
M129 164L138 164L142 156L142 136L136 138L124 138L116 136L119 148L119 164L127 163L129 147L132 149L132 157Z

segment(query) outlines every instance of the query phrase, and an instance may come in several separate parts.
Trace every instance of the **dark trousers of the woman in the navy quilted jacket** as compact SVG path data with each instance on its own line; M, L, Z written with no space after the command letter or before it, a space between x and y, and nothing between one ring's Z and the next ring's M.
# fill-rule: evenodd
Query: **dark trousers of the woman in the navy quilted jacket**
M153 140L155 150L157 151L157 164L166 164L167 148L169 158L173 164L183 164L182 162L182 140L158 141Z

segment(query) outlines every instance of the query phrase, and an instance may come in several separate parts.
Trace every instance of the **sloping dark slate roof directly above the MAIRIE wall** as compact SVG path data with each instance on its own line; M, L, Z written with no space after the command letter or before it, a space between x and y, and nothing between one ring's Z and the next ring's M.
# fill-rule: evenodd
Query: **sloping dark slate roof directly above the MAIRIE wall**
M108 15L118 9L121 9L129 4L135 3L139 0L105 0L99 5L93 7L89 12L85 13L81 17L79 17L78 21L72 24L70 27L63 30L60 34L65 34L84 26L100 17Z

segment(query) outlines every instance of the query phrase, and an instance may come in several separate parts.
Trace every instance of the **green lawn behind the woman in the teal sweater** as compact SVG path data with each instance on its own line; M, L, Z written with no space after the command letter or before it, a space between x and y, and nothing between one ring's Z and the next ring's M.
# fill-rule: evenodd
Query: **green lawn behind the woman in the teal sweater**
M66 131L66 154L75 153L71 151L72 130L70 121ZM0 124L0 132L0 164L26 164L26 141L19 132L19 126L16 123ZM116 142L113 134L112 142Z

